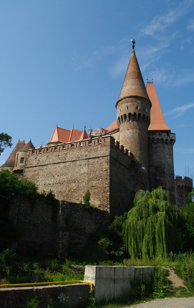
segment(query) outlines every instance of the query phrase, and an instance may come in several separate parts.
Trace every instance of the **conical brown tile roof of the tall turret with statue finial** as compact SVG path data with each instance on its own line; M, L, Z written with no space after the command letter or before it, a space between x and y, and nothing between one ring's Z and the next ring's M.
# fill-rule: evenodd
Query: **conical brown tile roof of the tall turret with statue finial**
M140 96L149 99L134 48L117 103L127 96Z

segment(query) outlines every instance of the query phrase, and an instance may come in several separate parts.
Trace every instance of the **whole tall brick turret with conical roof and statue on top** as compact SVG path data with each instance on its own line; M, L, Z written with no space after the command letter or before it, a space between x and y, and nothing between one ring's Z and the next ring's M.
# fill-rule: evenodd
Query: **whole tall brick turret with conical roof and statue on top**
M152 104L135 55L135 41L133 40L132 43L131 59L116 103L117 124L120 130L120 143L132 152L146 169L146 174L148 170L148 126Z

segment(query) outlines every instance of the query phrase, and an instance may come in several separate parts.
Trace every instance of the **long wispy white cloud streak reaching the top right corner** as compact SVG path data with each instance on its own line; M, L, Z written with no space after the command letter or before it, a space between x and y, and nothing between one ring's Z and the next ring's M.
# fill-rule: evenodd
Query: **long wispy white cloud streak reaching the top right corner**
M180 4L168 11L167 14L155 16L151 23L141 31L147 35L155 35L156 33L162 32L165 28L176 22L181 16L189 12L190 7L193 5L193 0L185 0Z

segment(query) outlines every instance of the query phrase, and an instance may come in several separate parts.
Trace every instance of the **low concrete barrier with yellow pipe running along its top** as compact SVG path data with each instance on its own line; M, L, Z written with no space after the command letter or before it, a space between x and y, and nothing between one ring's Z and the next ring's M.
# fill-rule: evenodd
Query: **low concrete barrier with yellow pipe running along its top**
M51 299L53 307L75 308L86 302L89 290L87 283L0 289L0 308L26 308L35 296L41 308L47 308Z

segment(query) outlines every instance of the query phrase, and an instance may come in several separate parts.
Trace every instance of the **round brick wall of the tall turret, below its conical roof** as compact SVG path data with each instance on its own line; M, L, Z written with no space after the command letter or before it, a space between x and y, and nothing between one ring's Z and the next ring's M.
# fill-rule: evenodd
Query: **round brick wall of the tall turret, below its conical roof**
M119 142L142 164L142 189L148 189L148 126L151 103L144 98L127 97L117 104ZM139 108L139 109L138 109Z

